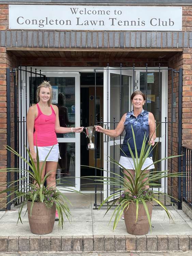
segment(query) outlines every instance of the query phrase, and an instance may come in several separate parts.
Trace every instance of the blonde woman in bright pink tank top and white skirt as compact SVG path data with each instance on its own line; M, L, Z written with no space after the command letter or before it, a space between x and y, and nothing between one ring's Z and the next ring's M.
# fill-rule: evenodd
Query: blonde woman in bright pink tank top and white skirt
M82 132L83 127L60 127L59 111L56 105L51 105L52 87L49 82L41 83L36 91L37 104L31 106L27 113L27 134L29 150L36 162L36 146L38 146L40 168L43 161L53 146L42 172L42 179L46 173L47 187L56 187L56 169L60 158L59 145L56 133ZM35 130L35 131L34 131ZM58 213L56 212L56 219Z

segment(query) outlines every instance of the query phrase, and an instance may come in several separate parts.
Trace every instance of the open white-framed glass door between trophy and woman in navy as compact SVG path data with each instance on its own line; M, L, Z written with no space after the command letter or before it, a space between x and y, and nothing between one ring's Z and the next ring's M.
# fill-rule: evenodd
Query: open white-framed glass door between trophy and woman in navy
M104 126L108 124L107 129L115 129L122 115L130 111L132 75L133 72L128 70L121 70L121 73L120 70L114 68L104 70ZM107 165L107 155L118 161L120 157L119 146L123 139L124 133L121 134L121 137L108 138L109 141L107 143L107 138L104 135L104 170L107 170L108 166L108 172L104 171L104 177L113 175L109 172L120 174L118 165L113 162L108 162ZM109 187L104 183L104 199L114 194L114 192L113 186Z

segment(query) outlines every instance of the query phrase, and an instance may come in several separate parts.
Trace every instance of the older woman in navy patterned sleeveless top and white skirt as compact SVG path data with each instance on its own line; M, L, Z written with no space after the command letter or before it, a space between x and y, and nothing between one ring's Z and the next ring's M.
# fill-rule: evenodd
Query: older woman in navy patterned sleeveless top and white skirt
M141 153L141 147L142 147L144 136L147 136L146 144L150 143L152 146L154 145L154 140L156 139L156 132L155 132L156 126L155 126L154 116L152 113L143 109L143 105L145 104L145 101L146 101L145 95L142 93L142 91L137 90L131 95L133 110L131 112L125 113L122 116L115 130L107 130L101 126L98 126L98 125L95 126L96 131L105 133L110 137L120 136L120 134L125 129L126 134L123 140L119 163L124 168L129 170L131 175L125 169L123 170L123 172L126 173L129 177L132 176L133 178L134 178L134 172L135 172L134 164L128 148L128 140L129 140L129 145L135 156L135 146L134 146L131 127L133 127L134 134L135 134L138 157L140 156L140 153ZM152 160L152 152L149 154L149 157L147 157L146 161L144 162L142 170L148 166L149 168L147 170L154 168L153 160ZM128 181L126 177L125 179ZM149 186L147 186L146 188L149 188Z

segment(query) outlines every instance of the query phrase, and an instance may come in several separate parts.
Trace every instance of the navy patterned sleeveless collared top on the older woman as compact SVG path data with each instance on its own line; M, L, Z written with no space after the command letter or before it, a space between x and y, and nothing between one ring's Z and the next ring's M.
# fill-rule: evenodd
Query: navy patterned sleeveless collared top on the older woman
M140 153L141 153L141 147L142 147L144 136L145 138L147 136L146 146L148 146L148 142L149 142L148 120L149 120L149 112L144 109L137 117L134 116L133 110L127 113L125 117L125 122L124 122L126 134L125 134L123 145L122 145L122 150L125 154L121 151L120 153L121 156L131 157L131 154L129 152L129 148L127 145L128 140L129 140L129 145L131 147L131 150L133 151L133 154L135 156L135 146L133 141L133 133L132 133L131 125L133 127L134 134L135 134L135 141L136 141L138 156L140 156ZM152 156L152 152L150 152L149 154L149 157L151 156Z

